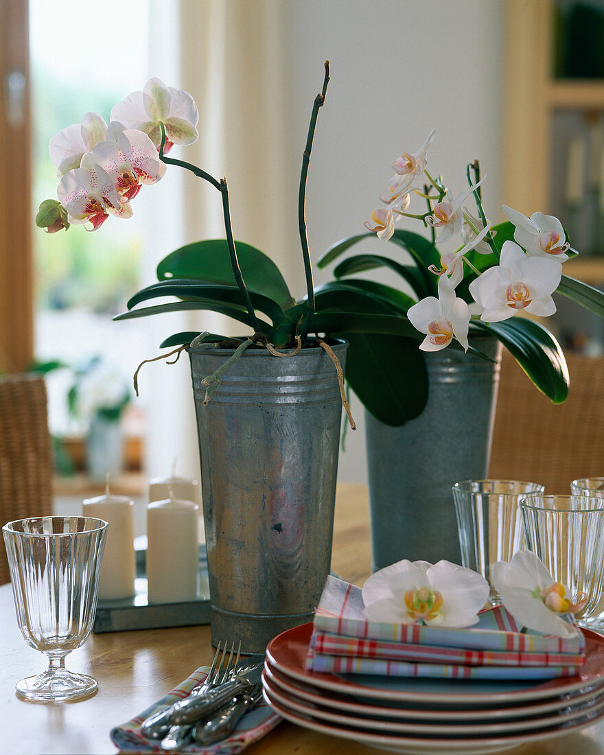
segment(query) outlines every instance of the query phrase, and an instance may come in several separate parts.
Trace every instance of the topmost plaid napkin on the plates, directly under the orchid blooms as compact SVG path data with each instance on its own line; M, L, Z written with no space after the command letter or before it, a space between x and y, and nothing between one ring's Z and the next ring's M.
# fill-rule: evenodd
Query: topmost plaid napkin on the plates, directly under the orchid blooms
M584 637L562 639L528 630L520 632L513 617L503 606L479 614L478 624L464 629L418 626L417 624L382 624L367 621L363 615L360 587L341 579L327 578L314 627L325 632L361 639L382 639L394 643L422 646L445 646L464 650L493 650L516 653L569 653L584 658Z

